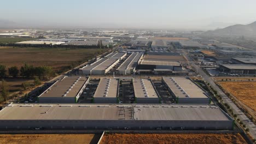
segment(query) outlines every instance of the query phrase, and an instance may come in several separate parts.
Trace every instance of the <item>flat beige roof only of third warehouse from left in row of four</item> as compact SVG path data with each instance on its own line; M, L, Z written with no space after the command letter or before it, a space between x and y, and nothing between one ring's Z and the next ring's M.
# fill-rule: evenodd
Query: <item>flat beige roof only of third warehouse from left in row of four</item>
M136 98L158 98L150 79L133 79L132 82Z

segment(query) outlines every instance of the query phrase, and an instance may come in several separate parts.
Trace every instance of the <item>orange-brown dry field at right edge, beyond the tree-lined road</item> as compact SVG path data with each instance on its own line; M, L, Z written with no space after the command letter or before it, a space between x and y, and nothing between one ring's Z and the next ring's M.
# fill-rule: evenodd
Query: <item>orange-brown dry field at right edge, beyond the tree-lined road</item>
M256 116L256 81L219 81L226 91L254 111Z

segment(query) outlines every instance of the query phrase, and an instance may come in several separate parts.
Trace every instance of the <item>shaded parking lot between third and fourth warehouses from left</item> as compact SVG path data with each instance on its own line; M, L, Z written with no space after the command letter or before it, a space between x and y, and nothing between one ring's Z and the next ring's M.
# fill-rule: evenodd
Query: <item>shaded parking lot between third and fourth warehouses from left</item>
M161 97L161 103L172 104L175 103L175 100L172 98L171 94L168 92L167 88L161 81L154 81L156 90L158 91Z

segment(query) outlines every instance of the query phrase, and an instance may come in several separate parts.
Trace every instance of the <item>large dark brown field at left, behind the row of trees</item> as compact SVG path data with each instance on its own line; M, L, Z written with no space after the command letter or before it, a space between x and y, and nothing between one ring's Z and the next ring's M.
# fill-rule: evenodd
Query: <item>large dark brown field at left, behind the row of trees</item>
M20 68L25 63L34 66L47 65L54 70L66 70L79 65L97 55L106 52L103 49L65 49L34 47L0 48L0 64L7 69L11 66Z

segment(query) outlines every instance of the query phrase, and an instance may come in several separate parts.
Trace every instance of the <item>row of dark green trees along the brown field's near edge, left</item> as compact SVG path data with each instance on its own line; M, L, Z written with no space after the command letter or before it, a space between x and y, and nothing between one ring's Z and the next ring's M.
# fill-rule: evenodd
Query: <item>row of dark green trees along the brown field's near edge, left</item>
M54 74L53 68L49 66L33 67L33 65L28 65L28 64L25 64L24 66L22 66L20 70L16 66L10 67L8 69L8 72L9 72L9 75L13 77L17 77L20 73L20 76L23 76L23 77L31 78L34 76L38 76L39 79L41 79L42 77L48 79L49 76L52 76ZM1 78L6 77L7 76L6 73L7 73L7 70L5 65L0 65L0 77Z

